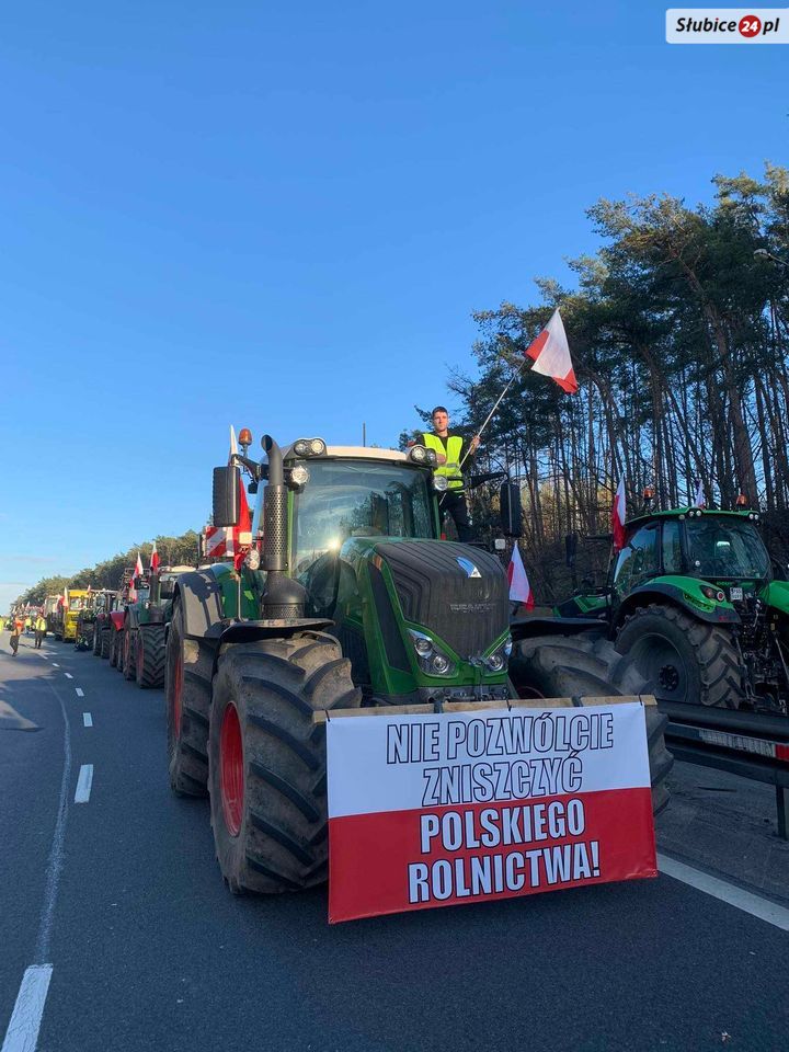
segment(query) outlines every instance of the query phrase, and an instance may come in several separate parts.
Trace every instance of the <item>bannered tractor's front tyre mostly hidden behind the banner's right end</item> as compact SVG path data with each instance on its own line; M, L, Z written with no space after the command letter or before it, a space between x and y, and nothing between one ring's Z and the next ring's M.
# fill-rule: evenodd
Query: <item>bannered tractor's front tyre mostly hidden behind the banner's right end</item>
M524 640L513 651L510 676L519 697L604 698L652 694L634 663L618 654L603 636L542 636ZM644 706L652 812L668 803L666 776L674 757L665 745L668 717L656 705Z

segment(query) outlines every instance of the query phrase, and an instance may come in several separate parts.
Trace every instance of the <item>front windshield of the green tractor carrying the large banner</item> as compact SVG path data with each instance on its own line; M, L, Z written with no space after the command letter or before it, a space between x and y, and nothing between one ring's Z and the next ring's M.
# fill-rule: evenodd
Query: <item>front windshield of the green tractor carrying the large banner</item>
M427 472L367 460L310 460L308 468L295 496L296 573L348 537L435 537Z

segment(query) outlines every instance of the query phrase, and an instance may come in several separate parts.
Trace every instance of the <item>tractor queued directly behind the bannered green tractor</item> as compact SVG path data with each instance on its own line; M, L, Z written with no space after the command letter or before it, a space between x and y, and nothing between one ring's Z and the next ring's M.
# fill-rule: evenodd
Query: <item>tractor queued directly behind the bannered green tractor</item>
M159 567L149 571L137 590L137 599L125 606L116 667L124 679L136 681L140 689L164 686L164 653L175 582L192 569Z

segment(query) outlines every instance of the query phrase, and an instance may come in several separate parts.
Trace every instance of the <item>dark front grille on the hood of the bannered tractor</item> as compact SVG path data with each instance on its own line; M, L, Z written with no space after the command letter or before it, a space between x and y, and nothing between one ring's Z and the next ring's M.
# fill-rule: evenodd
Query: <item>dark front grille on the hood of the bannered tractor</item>
M507 581L490 552L439 540L380 544L408 621L445 640L460 658L483 653L508 621ZM476 568L469 576L459 560Z

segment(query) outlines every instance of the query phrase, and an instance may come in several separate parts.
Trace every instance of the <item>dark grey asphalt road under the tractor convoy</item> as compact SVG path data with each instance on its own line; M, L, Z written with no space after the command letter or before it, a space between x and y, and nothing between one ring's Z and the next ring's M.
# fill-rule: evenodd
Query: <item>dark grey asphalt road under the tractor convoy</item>
M324 891L232 897L164 735L162 691L0 636L0 1037L53 965L26 1052L787 1048L789 934L670 877L333 927Z

